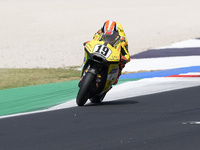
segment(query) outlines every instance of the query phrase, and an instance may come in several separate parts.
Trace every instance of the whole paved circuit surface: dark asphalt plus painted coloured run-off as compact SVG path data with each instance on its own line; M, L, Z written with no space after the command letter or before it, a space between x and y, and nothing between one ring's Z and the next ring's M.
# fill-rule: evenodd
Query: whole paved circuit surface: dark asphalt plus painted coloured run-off
M98 105L76 106L78 80L1 90L0 149L198 149L200 39L131 58Z

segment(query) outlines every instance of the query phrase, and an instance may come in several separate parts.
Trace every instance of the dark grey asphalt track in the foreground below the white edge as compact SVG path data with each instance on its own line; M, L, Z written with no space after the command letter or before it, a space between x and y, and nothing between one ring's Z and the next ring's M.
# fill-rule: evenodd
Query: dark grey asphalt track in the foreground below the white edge
M200 86L0 119L0 150L197 150Z

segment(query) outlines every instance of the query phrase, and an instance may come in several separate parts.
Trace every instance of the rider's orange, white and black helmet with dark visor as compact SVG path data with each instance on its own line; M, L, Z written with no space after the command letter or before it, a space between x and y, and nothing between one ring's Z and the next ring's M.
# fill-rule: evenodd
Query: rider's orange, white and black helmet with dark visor
M103 27L101 28L103 32L102 39L109 43L110 45L114 45L115 42L119 39L119 32L117 23L112 20L107 20Z

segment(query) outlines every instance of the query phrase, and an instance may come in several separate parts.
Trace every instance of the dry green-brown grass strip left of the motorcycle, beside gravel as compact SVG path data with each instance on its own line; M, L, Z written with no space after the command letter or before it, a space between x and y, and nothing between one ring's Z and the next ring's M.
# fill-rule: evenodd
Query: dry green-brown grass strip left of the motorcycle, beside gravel
M79 79L76 68L0 69L0 90Z

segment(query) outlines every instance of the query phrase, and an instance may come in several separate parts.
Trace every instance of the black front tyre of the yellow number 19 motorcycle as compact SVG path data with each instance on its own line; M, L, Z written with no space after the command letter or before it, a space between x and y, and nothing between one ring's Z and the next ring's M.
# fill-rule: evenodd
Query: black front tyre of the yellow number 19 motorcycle
M87 102L90 94L90 87L95 79L95 75L88 72L84 78L85 79L82 80L83 83L81 83L78 95L76 97L76 103L78 106L83 106Z

